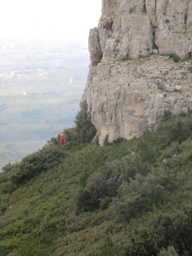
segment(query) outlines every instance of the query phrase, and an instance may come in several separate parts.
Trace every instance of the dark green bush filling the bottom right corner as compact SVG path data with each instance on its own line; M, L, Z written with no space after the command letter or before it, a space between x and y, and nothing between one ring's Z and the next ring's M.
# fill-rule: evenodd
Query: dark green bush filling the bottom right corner
M153 212L147 225L133 228L124 247L127 256L157 255L168 246L173 246L179 255L191 255L192 205L176 203L169 207L171 211L168 208L167 212ZM165 255L175 255L171 248L167 251Z

